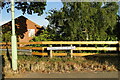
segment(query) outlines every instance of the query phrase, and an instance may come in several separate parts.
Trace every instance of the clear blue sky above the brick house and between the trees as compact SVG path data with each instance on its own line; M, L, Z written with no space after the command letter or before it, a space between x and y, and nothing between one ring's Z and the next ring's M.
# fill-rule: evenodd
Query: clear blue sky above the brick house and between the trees
M15 9L15 18L23 15L40 26L47 26L49 24L49 21L45 19L48 16L46 12L54 8L59 10L60 8L63 7L63 4L61 3L60 0L56 0L56 1L49 0L49 1L47 1L46 9L41 16L38 16L37 14L32 14L32 15L24 14L23 15L22 11ZM120 2L119 2L119 5L120 5ZM119 8L119 14L120 14L120 8ZM11 21L11 13L7 13L6 8L4 8L2 9L2 12L0 14L0 25L5 24L9 21Z

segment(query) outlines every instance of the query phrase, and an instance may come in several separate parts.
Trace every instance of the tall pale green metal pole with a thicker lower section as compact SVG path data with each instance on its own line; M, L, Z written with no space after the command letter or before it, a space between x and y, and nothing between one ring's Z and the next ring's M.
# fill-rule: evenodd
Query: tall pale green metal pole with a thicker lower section
M11 0L11 17L12 17L12 69L17 70L17 39L15 35L15 20L14 20L14 0Z

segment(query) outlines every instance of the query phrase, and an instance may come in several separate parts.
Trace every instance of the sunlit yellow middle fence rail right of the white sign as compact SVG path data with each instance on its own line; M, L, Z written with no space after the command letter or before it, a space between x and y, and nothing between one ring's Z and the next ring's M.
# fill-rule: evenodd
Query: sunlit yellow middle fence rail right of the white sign
M76 47L73 50L104 50L104 51L116 51L117 47Z

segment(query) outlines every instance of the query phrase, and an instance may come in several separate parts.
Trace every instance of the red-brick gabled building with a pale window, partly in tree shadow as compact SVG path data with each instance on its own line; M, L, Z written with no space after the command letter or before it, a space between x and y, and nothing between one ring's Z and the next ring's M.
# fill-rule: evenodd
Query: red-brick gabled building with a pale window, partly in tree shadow
M24 16L15 18L15 28L18 42L29 42L36 33L44 29ZM2 33L12 31L12 21L2 25Z

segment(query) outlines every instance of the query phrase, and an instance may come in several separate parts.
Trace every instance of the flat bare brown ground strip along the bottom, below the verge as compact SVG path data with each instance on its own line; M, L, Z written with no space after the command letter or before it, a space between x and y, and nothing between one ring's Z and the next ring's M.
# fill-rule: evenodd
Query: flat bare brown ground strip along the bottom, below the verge
M7 78L118 78L118 72L24 73Z

